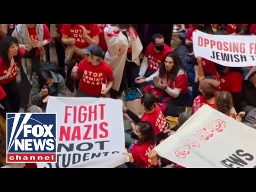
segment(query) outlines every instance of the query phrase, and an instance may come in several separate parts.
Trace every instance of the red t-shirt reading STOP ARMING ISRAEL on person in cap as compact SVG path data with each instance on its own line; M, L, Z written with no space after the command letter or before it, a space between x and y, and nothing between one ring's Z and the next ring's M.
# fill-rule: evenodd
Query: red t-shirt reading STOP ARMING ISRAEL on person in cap
M114 71L106 61L102 61L98 66L93 66L87 58L78 64L78 72L82 78L79 82L79 89L91 95L101 94L102 83L107 84L114 81Z

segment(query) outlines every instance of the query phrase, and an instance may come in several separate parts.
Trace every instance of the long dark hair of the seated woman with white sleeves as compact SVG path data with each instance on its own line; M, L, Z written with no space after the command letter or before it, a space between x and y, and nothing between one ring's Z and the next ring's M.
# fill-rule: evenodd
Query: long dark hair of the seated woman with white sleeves
M167 72L165 69L165 59L167 57L170 57L173 59L173 68L170 72ZM179 73L179 70L183 69L186 73L187 73L187 69L185 68L185 66L182 64L180 57L177 53L174 52L169 52L165 55L162 64L159 68L159 77L160 78L164 78L165 76L167 76L167 79L171 79L172 81L175 80L175 78L177 77L177 74Z

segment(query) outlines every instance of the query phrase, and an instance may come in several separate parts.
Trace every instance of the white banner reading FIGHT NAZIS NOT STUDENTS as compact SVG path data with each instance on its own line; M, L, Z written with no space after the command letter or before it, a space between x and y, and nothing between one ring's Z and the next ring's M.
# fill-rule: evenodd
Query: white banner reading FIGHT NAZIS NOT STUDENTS
M51 97L46 113L57 113L57 163L37 167L111 168L129 161L122 154L121 100Z

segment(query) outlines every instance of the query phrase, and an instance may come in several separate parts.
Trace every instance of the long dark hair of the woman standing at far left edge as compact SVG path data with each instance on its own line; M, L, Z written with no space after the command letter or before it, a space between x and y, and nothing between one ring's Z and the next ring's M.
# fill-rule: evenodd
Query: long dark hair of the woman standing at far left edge
M10 66L11 61L9 59L8 52L9 52L10 47L13 44L17 44L19 46L18 39L15 37L12 37L12 36L6 36L2 40L1 45L0 45L0 57L2 57L3 63L8 64L9 66ZM20 52L18 51L18 55L15 56L15 60L19 60L19 59L21 59L21 56L20 56Z

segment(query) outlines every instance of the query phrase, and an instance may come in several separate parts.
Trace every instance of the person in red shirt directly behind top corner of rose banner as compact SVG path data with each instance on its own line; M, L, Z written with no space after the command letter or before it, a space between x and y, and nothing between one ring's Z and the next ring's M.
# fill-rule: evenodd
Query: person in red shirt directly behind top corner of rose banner
M193 114L201 108L203 105L209 105L212 108L216 108L215 92L220 83L214 79L203 79L199 84L199 94L193 103Z

